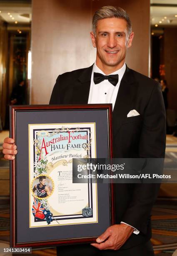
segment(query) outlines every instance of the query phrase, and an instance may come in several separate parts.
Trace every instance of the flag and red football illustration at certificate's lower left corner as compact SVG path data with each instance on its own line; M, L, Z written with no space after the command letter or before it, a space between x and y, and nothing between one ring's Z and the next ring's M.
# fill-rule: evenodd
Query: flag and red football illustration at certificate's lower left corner
M46 220L49 225L51 221L53 221L52 213L50 210L46 210L40 202L34 197L34 202L32 205L32 214L34 215L36 220Z

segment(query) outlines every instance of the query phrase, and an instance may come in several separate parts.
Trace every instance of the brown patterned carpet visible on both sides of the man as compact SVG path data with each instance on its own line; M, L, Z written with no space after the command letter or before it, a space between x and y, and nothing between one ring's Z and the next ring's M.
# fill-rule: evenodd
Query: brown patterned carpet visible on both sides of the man
M2 133L0 133L0 150L1 146ZM2 159L2 154L0 157L0 247L9 247L9 188L7 187L6 191L1 189L9 184L9 162ZM177 138L172 136L167 136L165 161L168 163L167 168L172 167L173 171L177 172ZM158 256L172 256L177 249L177 184L161 185L159 197L152 210L152 243ZM56 248L33 250L32 254L54 256Z

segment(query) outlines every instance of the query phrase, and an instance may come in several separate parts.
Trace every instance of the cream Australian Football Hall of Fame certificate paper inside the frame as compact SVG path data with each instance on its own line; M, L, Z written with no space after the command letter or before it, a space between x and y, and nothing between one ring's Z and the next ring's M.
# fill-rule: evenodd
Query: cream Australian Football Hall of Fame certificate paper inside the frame
M72 158L96 158L95 123L29 124L30 228L97 223L97 184L72 183Z

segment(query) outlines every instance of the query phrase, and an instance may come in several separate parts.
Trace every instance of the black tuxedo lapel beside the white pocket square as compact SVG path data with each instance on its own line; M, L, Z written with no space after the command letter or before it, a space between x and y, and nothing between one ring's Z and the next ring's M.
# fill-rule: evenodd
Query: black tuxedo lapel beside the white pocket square
M120 125L127 120L127 114L133 109L133 99L137 93L137 82L131 69L126 67L113 110L113 134L117 133Z

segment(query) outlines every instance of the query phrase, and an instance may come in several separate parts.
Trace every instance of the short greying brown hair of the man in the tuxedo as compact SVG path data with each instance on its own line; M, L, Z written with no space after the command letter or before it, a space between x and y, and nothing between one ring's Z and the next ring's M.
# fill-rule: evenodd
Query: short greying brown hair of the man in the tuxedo
M97 22L105 18L120 18L127 21L127 31L128 35L132 32L132 23L130 21L129 15L120 7L116 6L103 6L95 12L92 19L92 29L93 33L96 34Z

